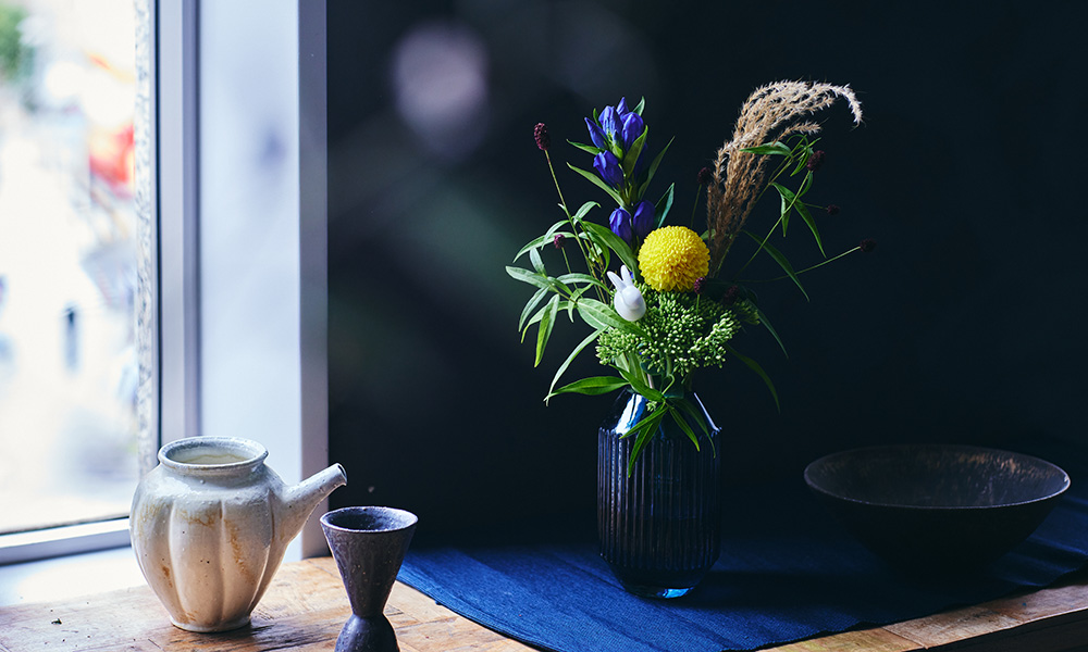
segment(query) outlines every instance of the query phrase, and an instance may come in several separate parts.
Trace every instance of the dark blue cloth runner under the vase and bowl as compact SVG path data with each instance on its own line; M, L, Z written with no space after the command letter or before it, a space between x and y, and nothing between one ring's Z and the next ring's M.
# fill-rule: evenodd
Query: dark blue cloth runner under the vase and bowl
M1038 453L1036 453L1038 454ZM1043 456L1043 455L1040 455ZM732 489L721 559L684 598L635 598L590 538L420 546L399 579L491 629L555 652L752 650L920 617L1041 587L1088 560L1088 474L1042 526L985 573L897 574L831 521L803 481Z

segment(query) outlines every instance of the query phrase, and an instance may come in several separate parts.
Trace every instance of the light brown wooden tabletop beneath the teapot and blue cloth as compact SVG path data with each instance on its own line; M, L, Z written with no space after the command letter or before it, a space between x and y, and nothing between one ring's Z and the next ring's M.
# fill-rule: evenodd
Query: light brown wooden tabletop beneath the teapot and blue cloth
M397 584L385 610L401 652L532 650ZM248 628L190 634L175 628L146 586L57 603L0 609L0 651L101 652L332 650L350 615L330 557L284 564ZM1088 647L1088 575L1053 588L886 627L848 631L780 651L1027 650ZM592 652L592 651L586 651Z

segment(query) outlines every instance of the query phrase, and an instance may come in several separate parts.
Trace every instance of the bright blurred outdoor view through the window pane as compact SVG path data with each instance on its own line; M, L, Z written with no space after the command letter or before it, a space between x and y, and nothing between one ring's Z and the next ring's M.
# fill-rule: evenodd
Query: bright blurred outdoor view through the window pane
M0 534L137 481L132 0L0 0Z

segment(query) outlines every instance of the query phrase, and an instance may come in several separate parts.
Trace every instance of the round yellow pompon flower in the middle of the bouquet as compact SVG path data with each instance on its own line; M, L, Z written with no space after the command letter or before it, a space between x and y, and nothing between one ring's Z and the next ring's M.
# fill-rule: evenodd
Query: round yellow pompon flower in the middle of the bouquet
M666 226L642 242L639 269L655 290L687 292L710 271L710 251L687 226Z

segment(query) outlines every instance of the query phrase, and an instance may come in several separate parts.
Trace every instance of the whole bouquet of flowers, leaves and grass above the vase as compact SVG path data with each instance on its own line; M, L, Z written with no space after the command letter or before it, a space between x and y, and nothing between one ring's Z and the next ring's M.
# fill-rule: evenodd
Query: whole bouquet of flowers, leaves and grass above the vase
M669 141L650 159L645 100L632 108L621 99L599 113L594 110L592 117L585 118L590 143L570 142L592 155L592 170L568 166L616 203L607 226L590 220L591 212L599 208L595 201L571 212L552 164L547 127L536 125L536 146L547 160L562 217L515 256L517 262L528 254L531 268L506 268L515 279L536 288L518 327L524 338L536 325L535 365L561 312L571 321L578 313L591 329L559 365L545 401L560 393L603 394L623 388L645 397L651 411L628 434L635 437L630 464L667 417L698 447L700 438L689 422L704 431L707 426L685 398L695 369L720 367L734 358L763 379L778 404L767 374L731 343L744 326L762 326L786 350L759 310L756 294L746 287L747 281L740 280L741 273L756 256L769 255L782 269L780 277L769 280L788 279L807 299L800 280L803 273L875 247L867 239L828 258L816 215L820 211L833 215L839 209L806 199L825 159L824 151L814 148L820 126L809 116L839 99L848 103L855 126L861 124L861 103L849 86L779 82L756 89L742 105L731 139L717 151L713 165L696 175L697 192L702 195L705 188L706 197L706 229L702 234L667 224L676 184L656 202L645 199L671 145ZM766 230L750 230L749 215L768 190L779 199L778 218ZM823 261L795 269L771 243L779 233L786 237L791 218L805 224ZM754 251L746 262L726 273L726 256L738 240L750 241ZM561 259L562 273L558 275L549 273L544 263L552 248ZM582 262L578 268L572 266L570 253L576 249ZM594 343L598 361L618 375L556 387L571 362Z

